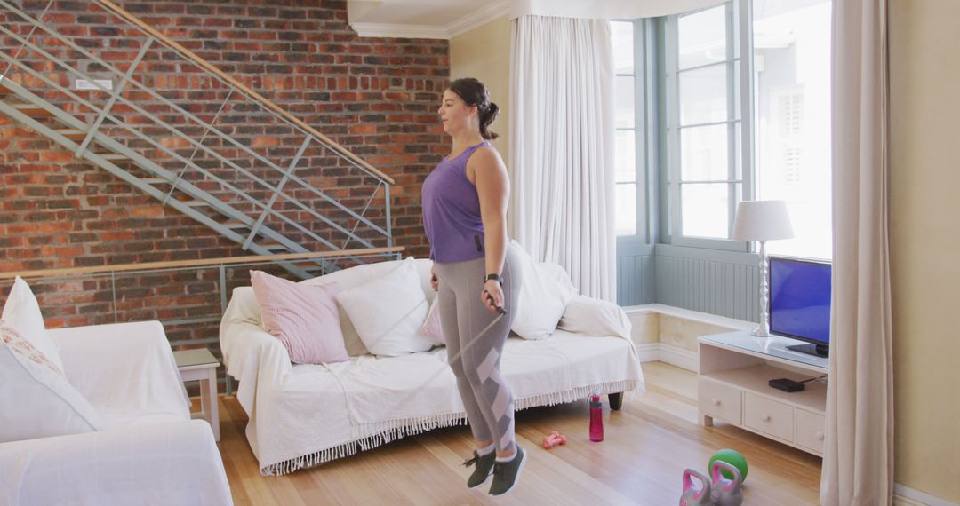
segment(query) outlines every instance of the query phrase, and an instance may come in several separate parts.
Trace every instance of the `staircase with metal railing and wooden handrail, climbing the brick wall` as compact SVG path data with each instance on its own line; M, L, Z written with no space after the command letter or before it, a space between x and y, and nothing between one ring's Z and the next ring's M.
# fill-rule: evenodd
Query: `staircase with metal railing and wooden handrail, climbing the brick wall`
M329 250L364 263L351 243L398 254L391 177L131 13L108 0L90 6L135 34L124 41L131 61L0 0L0 37L17 44L0 49L0 113L251 254ZM172 72L143 72L150 66ZM194 85L178 89L184 80ZM370 196L337 195L329 187L341 180ZM280 265L306 279L335 269L329 262Z

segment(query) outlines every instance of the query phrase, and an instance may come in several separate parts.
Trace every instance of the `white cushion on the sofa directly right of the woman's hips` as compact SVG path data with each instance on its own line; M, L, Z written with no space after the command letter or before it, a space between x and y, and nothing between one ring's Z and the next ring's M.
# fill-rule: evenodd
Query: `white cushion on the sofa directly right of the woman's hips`
M518 242L511 241L508 247L516 254L523 278L511 330L524 339L545 339L557 330L566 303L573 298L572 286L557 281L555 269L534 262Z

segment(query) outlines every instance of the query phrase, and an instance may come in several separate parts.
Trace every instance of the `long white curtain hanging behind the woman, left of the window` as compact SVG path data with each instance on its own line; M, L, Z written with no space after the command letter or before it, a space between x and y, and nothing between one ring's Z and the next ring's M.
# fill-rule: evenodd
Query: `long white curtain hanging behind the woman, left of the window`
M610 23L513 21L510 229L580 292L615 301Z

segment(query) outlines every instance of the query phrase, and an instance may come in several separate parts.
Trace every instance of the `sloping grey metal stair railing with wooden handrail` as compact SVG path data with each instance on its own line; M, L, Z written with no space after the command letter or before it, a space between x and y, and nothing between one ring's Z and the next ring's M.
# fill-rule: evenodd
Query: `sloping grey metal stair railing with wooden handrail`
M267 101L262 96L253 92L249 87L230 78L216 67L213 67L211 64L180 46L177 42L170 40L163 34L159 34L156 30L144 25L142 21L122 11L107 0L96 0L92 5L101 6L110 15L120 17L128 26L136 29L146 37L145 41L140 44L136 57L133 58L132 63L127 66L126 71L121 71L120 68L109 63L104 58L98 58L92 51L78 44L70 37L58 33L50 26L41 22L43 15L48 11L50 5L51 4L48 4L43 13L40 14L39 19L36 19L26 12L17 9L16 6L12 5L8 0L0 0L0 8L14 14L16 18L22 20L22 23L25 23L25 26L30 26L29 34L23 36L12 30L12 26L0 25L0 33L7 35L20 44L13 56L5 51L0 51L0 58L7 62L7 68L4 74L0 76L0 85L10 89L17 98L38 106L45 111L44 116L53 116L60 124L68 128L64 131L63 129L43 125L39 119L5 102L0 102L0 111L34 128L36 131L43 133L58 142L61 146L73 150L78 157L89 160L99 167L108 170L108 172L116 174L118 177L123 178L148 195L154 196L187 216L203 222L204 225L213 228L231 241L241 243L244 249L251 249L255 253L276 253L277 248L291 252L306 251L306 248L300 245L300 243L292 241L279 231L275 231L273 229L275 226L280 226L286 231L296 231L301 237L319 242L331 250L337 251L346 249L349 242L359 242L364 247L374 246L370 240L357 233L357 228L361 224L366 226L373 235L384 238L388 246L393 244L390 188L391 185L394 184L394 181L389 176L380 173L348 150L327 139L313 127L309 127L300 121L300 119L281 109L278 105ZM58 58L57 55L53 54L58 48L51 47L51 50L47 51L40 47L39 44L31 40L37 31L40 31L43 36L54 37L59 43L62 43L73 52L92 61L99 68L106 69L111 76L119 79L116 88L108 89L99 84L89 74ZM136 70L144 58L151 51L161 51L159 48L173 50L173 53L164 52L159 55L161 60L167 60L169 55L177 56L180 58L180 65L188 64L191 65L191 68L196 67L200 69L208 79L209 88L214 94L218 92L226 94L226 98L219 104L212 120L202 118L202 116L204 116L203 113L195 114L188 110L188 107L195 104L175 104L164 97L161 92L157 92L143 81L135 79ZM27 55L21 58L25 49L27 50ZM41 72L34 68L35 66L39 66L47 72ZM50 75L49 70L51 68L61 69L65 74ZM180 69L184 71L185 67L181 66ZM16 70L17 72L12 74L12 70ZM197 74L197 72L190 73L190 75L195 74ZM60 83L63 76L72 76L78 80L92 82L100 92L108 93L106 104L95 104L96 101L89 96L95 92L87 93L87 98L84 98L80 93L67 89ZM27 86L21 85L21 83L17 81L43 82L46 84L46 87L43 88L44 96L41 97L31 92ZM59 92L61 101L72 104L71 107L74 110L85 109L87 115L95 115L92 121L84 122L60 106L51 104L46 99L46 96L49 95L49 91L51 90ZM132 100L129 96L133 96L134 99L136 97L149 97L150 101L153 102L144 104L142 101ZM69 101L65 101L65 99L63 99L64 97L68 98ZM242 99L243 102L240 104L230 103L229 101L234 97ZM134 126L131 122L125 121L131 113L128 112L126 115L117 113L117 104L124 106L127 111L135 113L137 119L145 118L149 120L150 123L145 126L138 122L138 125ZM167 121L164 121L164 119L159 118L151 112L151 110L148 110L156 110L156 104L161 104L171 113L176 113L178 115L176 118L185 122L189 127L178 128L171 125L173 120L170 120L169 117L165 118ZM232 110L250 110L250 108L253 107L265 113L267 117L272 118L279 125L282 125L284 131L301 135L302 141L300 142L298 150L296 150L296 154L292 157L289 155L283 157L287 163L279 160L275 162L271 160L269 150L267 150L268 152L260 152L255 149L255 146L248 146L242 142L243 139L230 135L225 131L229 125L217 127L216 124L221 118L225 108L228 108L228 105ZM105 130L104 125L107 122L112 131L108 132ZM150 127L158 127L159 131L165 132L169 137L157 140L156 130ZM192 134L192 129L197 127L203 131L203 135L200 135L199 141L195 138L197 135ZM126 144L114 139L114 137L117 137L118 131L128 135L126 139L121 139L126 140ZM264 131L267 131L266 127ZM69 135L67 135L66 132L69 132ZM78 137L80 137L80 139L77 139ZM287 135L286 137L289 138L290 136ZM207 138L216 139L224 150L233 150L233 152L239 153L239 156L242 156L242 158L239 158L237 155L228 156L225 153L219 152L214 147L208 146L205 144ZM181 147L192 148L193 151L189 158L177 152L176 149L167 146L170 139L179 142ZM177 141L178 139L179 141ZM164 142L165 140L168 142ZM179 166L180 170L174 171L171 170L171 167L163 167L162 164L156 163L154 157L149 155L150 153L140 153L133 149L131 145L135 145L136 143L140 143L140 146L150 147L150 149L155 150L155 153L156 151L163 153L171 163L177 162L181 164L181 166ZM91 146L107 149L110 152L96 152L90 149ZM307 150L314 147L321 147L324 151L329 151L335 155L336 160L340 160L338 163L346 163L348 169L357 169L366 174L366 176L373 178L375 187L372 189L372 195L367 199L366 205L360 213L353 211L337 198L317 188L311 184L307 178L295 173L298 165L304 158L304 154ZM122 156L110 156L110 153ZM203 154L205 157L204 160L196 159L198 153ZM105 156L105 154L107 156ZM148 175L157 177L142 177L133 175L130 171L125 171L119 166L119 160L123 158L131 160L137 168L143 170ZM204 168L201 163L202 161L205 162L206 165L228 168L230 170L229 174L232 177L238 178L238 180L227 180L223 172L216 173L213 170ZM213 163L210 164L210 162ZM240 165L241 163L247 162L252 162L254 167L248 169ZM169 166L170 163L167 165ZM308 167L307 169L310 171L317 170L314 167ZM270 175L258 175L254 173L255 170L266 170L267 173L273 173L275 177L278 174L279 180L271 182L268 180ZM187 180L185 177L187 174L194 175L195 180L199 179L196 181L196 184ZM243 179L239 179L240 176L243 176ZM170 188L164 192L157 188L158 184L166 184L169 185ZM228 198L224 199L220 196L212 195L208 191L210 188L219 189L220 193L222 195L226 194ZM374 223L372 219L366 217L371 208L372 201L381 188L383 189L383 211L385 214L383 226ZM176 197L172 197L175 192L180 192L198 201L181 201ZM262 198L254 194L269 195L269 198L264 202ZM309 196L313 198L313 201L303 202L301 198L298 198L295 194ZM333 212L339 212L342 217L340 219L341 222L338 223L336 220L330 219L315 210L311 204L316 204L317 202L329 204ZM220 217L225 217L232 221L224 222L212 219L196 209L200 207L198 204L201 203ZM248 211L237 209L238 204L242 204L243 208ZM285 212L289 213L290 211L296 212L293 217L285 214ZM255 218L251 215L254 215ZM327 239L323 235L318 234L317 231L304 226L301 222L304 221L304 219L315 219L316 222L324 224L328 231L333 230L338 232L343 237L344 242L338 245L333 242L332 238ZM348 229L349 221L353 221L353 225ZM235 228L249 228L249 231L245 234L240 234L234 230ZM269 246L257 244L255 242L257 238L274 241L276 244ZM323 266L328 267L328 265ZM306 273L299 271L298 274L305 275Z

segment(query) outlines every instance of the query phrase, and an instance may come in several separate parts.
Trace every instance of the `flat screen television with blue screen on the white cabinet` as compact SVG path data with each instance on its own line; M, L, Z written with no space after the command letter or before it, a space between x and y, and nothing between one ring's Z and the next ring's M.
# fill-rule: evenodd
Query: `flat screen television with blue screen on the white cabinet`
M806 341L788 349L828 357L830 264L770 257L770 332Z

